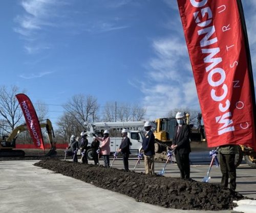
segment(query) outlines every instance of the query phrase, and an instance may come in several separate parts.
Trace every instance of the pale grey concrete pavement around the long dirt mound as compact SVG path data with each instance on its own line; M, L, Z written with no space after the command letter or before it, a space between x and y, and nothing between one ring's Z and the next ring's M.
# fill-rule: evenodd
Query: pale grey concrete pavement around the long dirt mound
M78 212L102 212L113 213L165 213L165 212L216 212L198 210L167 209L151 204L136 202L133 198L103 190L92 184L80 180L55 174L52 171L35 167L37 161L1 161L0 162L0 206L2 213L23 212L51 212L51 213L78 213ZM89 161L90 163L91 161ZM100 161L102 163L102 161ZM91 162L92 163L92 162ZM135 161L131 161L131 170ZM116 168L122 168L122 161L116 160L113 164ZM156 172L161 170L163 163L156 163ZM178 177L179 171L176 164L167 165L166 176ZM218 169L219 170L219 169ZM220 172L212 171L212 182L218 182ZM143 162L138 165L137 172L144 171ZM193 179L201 180L206 174L207 167L191 167ZM243 168L238 173L238 190L255 195L255 170ZM202 176L203 175L203 176ZM239 176L238 175L238 176ZM254 178L254 183L247 183L245 179ZM242 183L244 182L244 183ZM252 185L253 186L252 186ZM246 187L245 187L246 186ZM251 186L251 187L249 187ZM249 190L250 188L250 190ZM218 212L232 212L230 210Z

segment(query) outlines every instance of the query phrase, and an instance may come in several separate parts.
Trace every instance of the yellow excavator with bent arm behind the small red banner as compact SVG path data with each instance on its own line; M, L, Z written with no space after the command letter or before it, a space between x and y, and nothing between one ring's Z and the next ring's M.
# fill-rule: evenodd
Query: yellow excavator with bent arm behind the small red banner
M40 123L40 127L46 128L51 145L50 151L46 155L55 156L56 142L52 122L49 119L47 119L45 123ZM28 131L27 124L17 126L12 130L12 132L8 136L3 136L3 140L1 140L0 143L0 157L16 157L25 155L25 152L23 150L14 150L16 148L15 142L18 134L24 131Z

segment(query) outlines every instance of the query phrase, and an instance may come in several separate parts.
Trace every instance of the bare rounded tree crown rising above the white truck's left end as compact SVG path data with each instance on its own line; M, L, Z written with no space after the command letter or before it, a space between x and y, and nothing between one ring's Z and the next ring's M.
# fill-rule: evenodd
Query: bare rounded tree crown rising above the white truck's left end
M95 97L76 94L63 108L83 127L84 122L91 122L97 119L99 107Z

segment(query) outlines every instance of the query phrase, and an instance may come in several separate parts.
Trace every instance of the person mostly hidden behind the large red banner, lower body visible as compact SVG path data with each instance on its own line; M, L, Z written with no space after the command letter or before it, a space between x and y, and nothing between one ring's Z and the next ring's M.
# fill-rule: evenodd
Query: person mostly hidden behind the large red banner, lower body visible
M222 173L221 185L227 188L228 178L230 178L230 190L233 191L235 191L237 187L237 172L236 166L234 165L234 158L238 152L238 145L222 145L219 147L220 166Z

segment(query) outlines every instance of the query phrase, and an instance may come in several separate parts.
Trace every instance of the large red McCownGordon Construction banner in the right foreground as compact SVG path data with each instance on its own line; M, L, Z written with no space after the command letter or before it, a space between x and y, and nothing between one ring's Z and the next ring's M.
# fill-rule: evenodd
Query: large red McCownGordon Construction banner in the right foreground
M208 147L256 150L255 94L240 0L178 0Z

